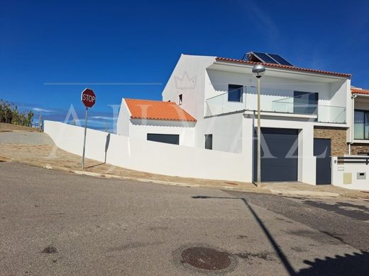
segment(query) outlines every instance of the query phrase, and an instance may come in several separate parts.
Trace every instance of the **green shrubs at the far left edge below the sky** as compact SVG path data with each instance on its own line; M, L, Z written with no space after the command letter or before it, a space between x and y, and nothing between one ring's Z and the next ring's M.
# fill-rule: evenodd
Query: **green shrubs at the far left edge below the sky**
M6 100L0 100L0 122L6 122L13 125L24 125L31 127L33 122L32 110L20 112L18 107Z

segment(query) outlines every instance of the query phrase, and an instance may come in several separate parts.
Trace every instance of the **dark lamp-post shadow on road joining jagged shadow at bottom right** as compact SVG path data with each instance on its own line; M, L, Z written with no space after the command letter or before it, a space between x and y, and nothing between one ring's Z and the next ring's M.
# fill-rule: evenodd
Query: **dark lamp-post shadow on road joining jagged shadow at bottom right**
M253 207L251 207L245 198L240 197L208 197L206 195L197 195L193 196L194 199L226 199L226 200L242 200L243 203L248 207L251 214L255 218L256 222L258 222L265 236L267 236L270 244L277 253L280 261L285 266L289 275L356 275L356 276L366 276L369 275L369 253L361 252L354 253L353 255L345 254L344 256L336 255L335 258L326 257L324 260L316 258L314 261L311 260L303 260L303 262L307 265L310 265L310 268L304 268L299 271L294 271L290 261L288 260L285 253L283 253L282 249L278 245L277 241L272 237L270 231L267 229L263 221L260 219L258 214L256 214Z

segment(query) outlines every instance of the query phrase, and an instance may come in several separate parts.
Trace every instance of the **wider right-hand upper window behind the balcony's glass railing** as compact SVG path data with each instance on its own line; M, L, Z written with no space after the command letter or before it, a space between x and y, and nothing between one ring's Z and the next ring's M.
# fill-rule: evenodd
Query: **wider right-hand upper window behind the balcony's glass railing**
M318 96L318 93L294 91L293 112L317 114Z

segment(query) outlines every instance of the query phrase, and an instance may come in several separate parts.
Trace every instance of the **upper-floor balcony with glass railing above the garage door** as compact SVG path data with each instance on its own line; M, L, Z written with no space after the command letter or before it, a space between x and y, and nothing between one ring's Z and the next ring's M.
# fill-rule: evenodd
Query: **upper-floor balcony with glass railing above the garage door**
M262 88L260 106L263 113L305 116L315 122L345 124L346 107L319 105L317 93ZM255 87L242 88L221 93L206 100L206 116L257 110L257 91Z

